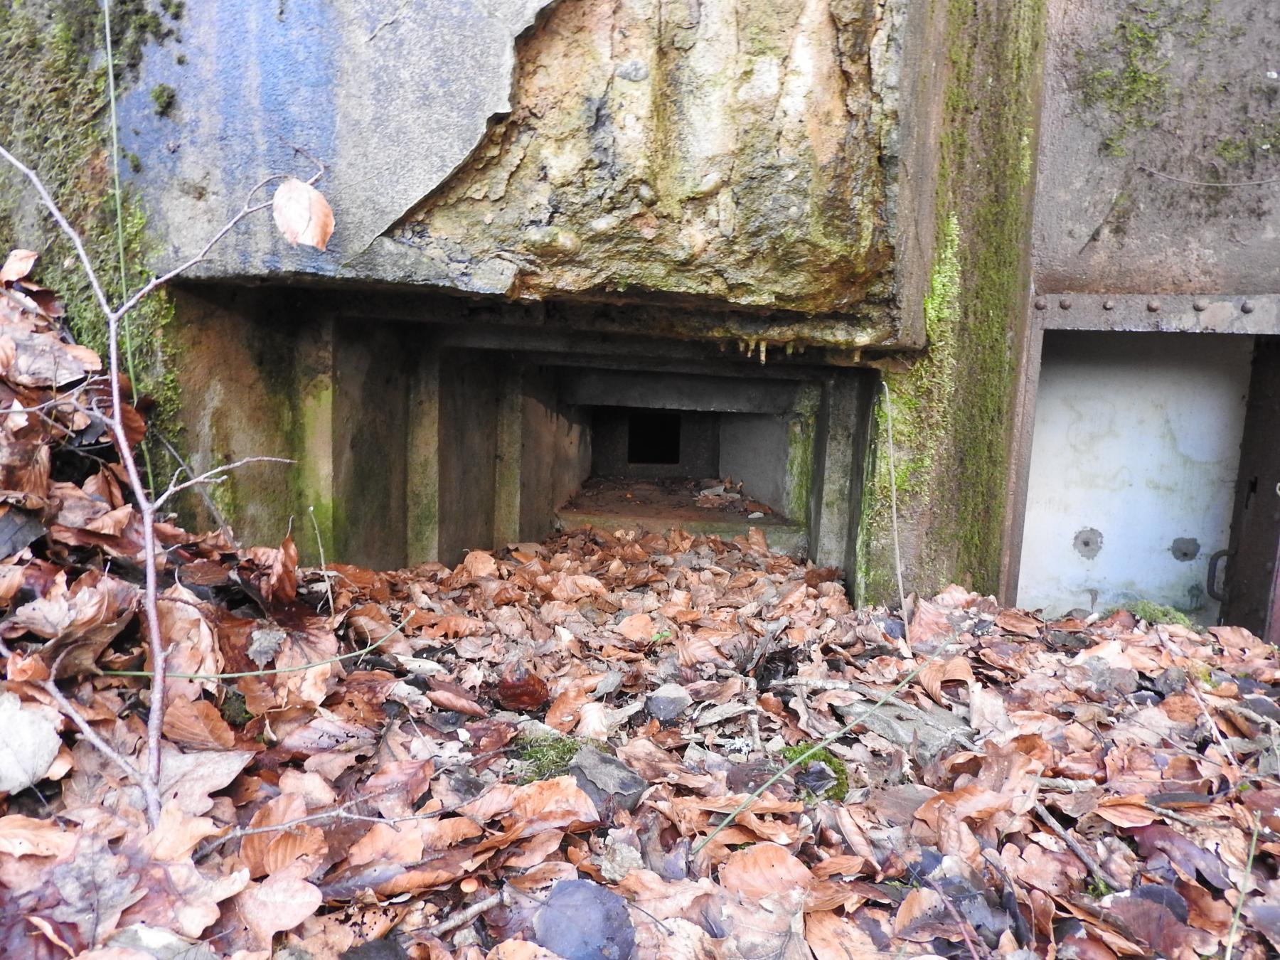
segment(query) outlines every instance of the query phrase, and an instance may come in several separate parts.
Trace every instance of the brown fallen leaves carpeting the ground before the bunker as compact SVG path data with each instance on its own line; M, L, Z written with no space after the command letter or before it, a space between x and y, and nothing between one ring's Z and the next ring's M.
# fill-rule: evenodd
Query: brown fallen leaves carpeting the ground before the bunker
M1280 946L1274 648L956 586L904 622L759 532L375 572L161 525L148 829L101 749L138 763L152 703L137 511L101 364L24 275L0 276L0 955Z

